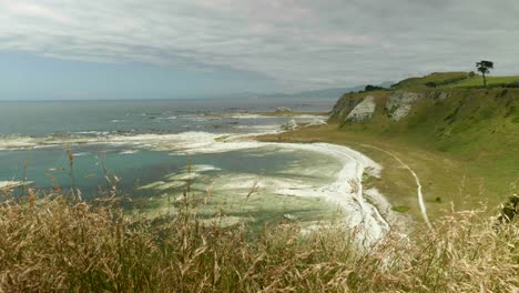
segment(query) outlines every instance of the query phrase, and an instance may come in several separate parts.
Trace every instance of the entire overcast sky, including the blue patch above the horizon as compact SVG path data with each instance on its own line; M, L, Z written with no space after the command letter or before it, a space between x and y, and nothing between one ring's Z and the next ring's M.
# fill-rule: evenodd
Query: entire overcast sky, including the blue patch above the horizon
M0 0L0 99L190 98L519 74L518 0Z

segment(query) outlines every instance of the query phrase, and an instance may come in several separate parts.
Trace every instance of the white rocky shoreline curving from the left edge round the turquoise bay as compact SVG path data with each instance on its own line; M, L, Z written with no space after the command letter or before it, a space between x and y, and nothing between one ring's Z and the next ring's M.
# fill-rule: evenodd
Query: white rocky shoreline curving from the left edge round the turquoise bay
M346 214L346 225L357 231L356 235L369 246L383 239L390 225L380 213L375 199L365 196L363 176L365 173L379 176L381 166L370 158L348 146L332 143L283 143L261 142L255 140L258 135L278 134L283 131L260 133L210 133L210 132L181 132L177 134L138 134L113 135L96 138L26 138L19 146L23 149L38 149L44 146L60 146L67 144L129 144L133 148L143 148L155 151L175 152L184 154L222 153L235 150L258 149L276 146L292 150L313 151L335 158L340 162L342 170L333 184L317 189L301 186L298 189L278 189L281 195L323 198L340 206ZM17 139L12 142L16 142ZM12 143L8 146L14 146ZM29 146L30 145L30 146ZM2 146L0 144L0 146ZM6 146L6 143L3 144ZM31 148L32 146L32 148ZM0 148L2 149L2 148ZM8 148L9 149L9 148ZM375 203L374 203L375 202ZM358 233L362 232L362 233Z

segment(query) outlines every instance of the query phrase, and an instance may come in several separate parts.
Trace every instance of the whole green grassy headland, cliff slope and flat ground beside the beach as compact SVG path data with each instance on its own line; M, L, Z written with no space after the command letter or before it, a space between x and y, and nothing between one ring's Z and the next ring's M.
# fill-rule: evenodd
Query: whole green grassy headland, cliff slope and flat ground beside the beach
M497 208L518 193L519 90L424 88L424 82L451 82L462 73L435 73L404 80L390 90L345 94L329 125L260 138L263 141L330 142L366 153L385 165L374 184L391 202L418 215L416 184L398 162L400 158L419 175L428 211L445 214L474 209L479 203ZM376 104L368 119L348 119L356 105L370 97ZM396 97L396 98L395 98ZM416 99L401 119L391 117L389 101ZM407 104L400 104L405 107Z

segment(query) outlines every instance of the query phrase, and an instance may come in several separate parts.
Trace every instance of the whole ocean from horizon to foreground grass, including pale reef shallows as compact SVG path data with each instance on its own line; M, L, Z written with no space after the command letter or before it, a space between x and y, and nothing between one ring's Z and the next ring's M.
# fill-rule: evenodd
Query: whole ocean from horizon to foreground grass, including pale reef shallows
M329 111L335 99L0 102L0 182L29 182L48 193L80 190L91 200L116 188L132 212L174 213L187 190L208 220L282 219L313 225L337 205L313 191L337 181L343 163L326 152L258 143L318 115L258 114L286 107ZM244 139L245 138L245 139ZM73 154L72 164L68 152ZM114 180L116 179L116 180Z

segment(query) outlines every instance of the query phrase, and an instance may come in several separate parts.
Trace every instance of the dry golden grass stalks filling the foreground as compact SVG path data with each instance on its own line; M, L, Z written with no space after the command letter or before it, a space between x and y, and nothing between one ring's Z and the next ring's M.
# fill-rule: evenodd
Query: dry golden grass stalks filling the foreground
M186 201L187 203L189 201ZM367 253L347 231L302 236L296 225L204 225L185 204L175 218L134 221L111 202L63 196L0 205L2 292L513 292L518 220L477 212L438 220L411 241L389 236Z

